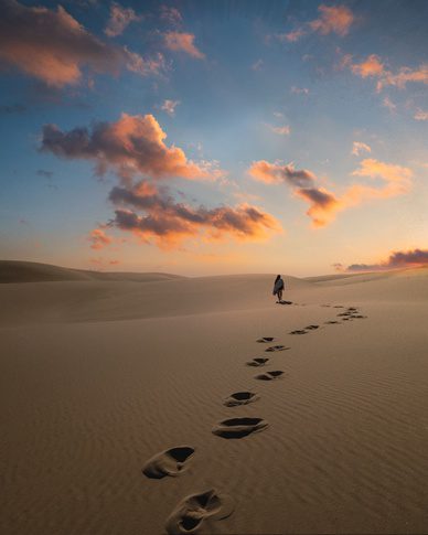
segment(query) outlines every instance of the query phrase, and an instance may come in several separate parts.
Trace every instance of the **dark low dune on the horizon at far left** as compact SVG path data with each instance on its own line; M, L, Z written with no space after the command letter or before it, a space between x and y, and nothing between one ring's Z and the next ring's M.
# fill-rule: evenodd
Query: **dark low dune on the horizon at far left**
M0 260L1 282L52 282L66 280L129 280L152 282L154 280L181 279L179 275L159 272L103 272L85 269L72 269L34 261Z

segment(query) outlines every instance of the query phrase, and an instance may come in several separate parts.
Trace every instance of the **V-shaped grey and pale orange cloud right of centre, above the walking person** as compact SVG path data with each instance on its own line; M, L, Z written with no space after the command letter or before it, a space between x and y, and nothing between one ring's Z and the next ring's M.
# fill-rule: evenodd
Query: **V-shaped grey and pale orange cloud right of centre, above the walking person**
M352 175L383 180L383 185L371 186L352 184L342 194L335 194L319 185L315 174L292 164L282 165L269 163L266 160L254 162L248 173L256 180L267 184L287 183L293 189L296 196L309 203L307 215L312 220L313 227L331 223L338 212L362 204L372 199L388 199L408 193L411 186L410 169L365 159Z

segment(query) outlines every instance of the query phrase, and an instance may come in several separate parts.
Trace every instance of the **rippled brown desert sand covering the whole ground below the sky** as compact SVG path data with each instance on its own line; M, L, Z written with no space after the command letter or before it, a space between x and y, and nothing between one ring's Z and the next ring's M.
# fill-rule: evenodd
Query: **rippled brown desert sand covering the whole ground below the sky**
M428 532L428 270L286 276L281 306L272 275L21 267L2 534Z

